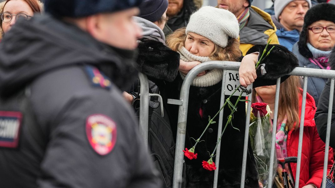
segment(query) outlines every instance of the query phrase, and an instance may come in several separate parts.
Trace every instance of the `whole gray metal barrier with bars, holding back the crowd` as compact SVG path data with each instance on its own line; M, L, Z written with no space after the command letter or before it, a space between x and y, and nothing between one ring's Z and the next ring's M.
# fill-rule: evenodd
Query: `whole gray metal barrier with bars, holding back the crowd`
M183 161L184 161L184 154L183 154L183 149L185 146L185 134L186 134L186 124L187 124L187 109L188 109L188 98L189 98L189 89L190 89L190 85L191 82L193 81L193 79L196 77L197 74L199 74L200 72L204 71L204 70L208 70L208 69L213 69L213 68L218 68L218 69L223 69L223 70L239 70L241 63L240 62L233 62L233 61L207 61L204 63L200 63L199 65L195 66L192 70L190 70L190 72L186 75L184 82L182 84L182 89L181 89L181 93L180 93L180 99L176 100L170 100L171 104L178 104L179 105L179 117L178 117L178 125L177 125L177 141L176 141L176 154L175 154L175 165L174 165L174 177L173 177L173 188L179 188L181 187L181 182L182 182L182 171L183 171ZM334 78L335 78L335 70L323 70L323 69L313 69L313 68L304 68L304 67L296 67L293 69L293 71L291 73L289 73L288 75L296 75L296 76L305 76L305 82L304 82L304 90L303 93L305 94L305 98L306 99L306 89L307 89L307 77L320 77L320 78L331 78L332 82L331 82L331 88L334 88ZM225 76L225 73L223 74L223 76ZM143 79L143 83L146 84L145 81L146 76L140 76L140 80L141 80L141 95L146 94L145 96L149 96L149 93L146 93L146 91L144 91L144 93L142 93L142 89L147 89L148 87L142 86L142 79ZM222 79L224 82L224 77ZM222 88L224 88L224 83L222 83ZM275 102L275 110L274 110L274 125L277 122L277 115L278 115L278 100L279 100L279 86L280 86L280 78L277 79L277 88L276 88L276 102ZM332 94L332 92L330 93ZM143 96L142 96L143 97ZM145 97L146 99L148 99L148 97ZM251 99L251 94L250 94L250 99ZM332 102L333 100L333 95L330 95L330 100L329 102ZM142 100L141 100L142 101ZM169 101L169 100L168 100ZM223 95L223 89L221 91L221 105L223 104L222 101L224 101L224 95ZM304 100L303 100L304 101ZM140 107L142 109L143 105L146 101L143 100L143 103L140 104ZM148 103L148 102L146 102ZM169 103L169 102L168 102ZM142 117L142 121L140 120L140 131L141 134L144 136L146 134L146 136L144 136L144 138L146 138L147 141L147 117L145 116L144 113L147 111L146 107L148 107L148 105L144 105L144 110L140 110L140 112L142 111L142 115L140 115L140 118ZM331 107L332 107L332 103L329 104L329 110L331 112ZM247 113L250 113L250 108L251 108L251 103L248 104L248 108L247 108ZM305 108L303 108L305 109ZM222 111L223 112L223 111ZM305 116L304 113L302 113L302 117ZM219 115L219 130L222 129L222 117L223 114ZM249 117L250 118L250 117ZM146 119L146 120L144 120ZM303 119L303 118L302 118ZM327 150L327 146L329 146L329 137L330 137L330 120L331 120L331 116L329 117L328 115L328 122L327 122L327 137L326 137L326 148L325 150ZM143 125L144 124L144 125ZM146 124L146 125L145 125ZM303 125L302 126L303 129ZM247 120L246 122L246 132L245 132L245 145L244 145L244 155L243 155L243 162L242 162L242 174L241 174L241 188L244 188L245 186L245 173L246 173L246 158L247 158L247 144L248 144L248 139L249 139L249 131L247 132L247 130L249 128L249 121ZM301 130L301 134L302 134ZM273 134L275 135L275 132L273 132ZM298 147L298 162L301 160L301 146L302 145L302 137L301 134L299 134L299 147ZM273 136L272 138L275 139L275 137ZM301 140L300 140L301 138ZM272 149L271 149L271 155L270 158L274 159L274 139L272 140ZM301 142L301 143L300 143ZM147 142L146 142L147 143ZM219 147L218 147L219 148ZM219 156L220 155L220 150L218 149L218 151L216 152L216 155ZM326 151L325 153L325 160L328 159L328 151ZM216 159L218 160L218 159ZM215 161L215 163L217 164L217 170L215 170L215 177L214 177L214 188L217 187L217 179L218 179L218 169L219 169L219 162ZM271 167L273 167L273 163L270 163L270 169ZM300 164L299 167L300 168ZM298 171L297 168L297 172ZM326 174L327 172L327 161L324 162L324 174ZM299 174L297 173L297 177L299 176ZM269 182L272 182L273 178L272 176L269 177ZM326 181L326 177L323 177L323 186L325 187L325 182ZM298 187L298 182L299 179L296 179L296 185L295 187ZM272 185L269 184L269 188L271 188Z

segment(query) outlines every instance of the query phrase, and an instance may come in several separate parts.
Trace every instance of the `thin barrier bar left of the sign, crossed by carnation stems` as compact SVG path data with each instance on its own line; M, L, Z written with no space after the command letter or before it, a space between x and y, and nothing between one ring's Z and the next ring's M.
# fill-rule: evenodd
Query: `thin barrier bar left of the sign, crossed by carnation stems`
M226 74L227 70L223 70L223 75L222 75L222 87L221 87L221 101L220 101L220 108L224 104L224 90L225 90L225 83L226 83ZM217 138L221 136L222 133L222 123L223 123L223 109L221 110L219 114L219 124L217 128ZM217 180L219 177L219 162L220 162L220 148L221 147L221 142L217 145L216 148L216 155L215 155L215 165L216 165L216 170L214 171L214 184L213 188L217 187Z

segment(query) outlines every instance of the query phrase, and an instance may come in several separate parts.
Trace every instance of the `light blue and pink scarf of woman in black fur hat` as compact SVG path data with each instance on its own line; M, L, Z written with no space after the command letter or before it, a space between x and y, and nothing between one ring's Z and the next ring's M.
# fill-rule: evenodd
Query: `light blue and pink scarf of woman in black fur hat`
M319 66L322 69L330 70L329 55L330 51L323 51L316 49L310 43L307 43L308 49L312 52L313 57L308 58L313 64Z

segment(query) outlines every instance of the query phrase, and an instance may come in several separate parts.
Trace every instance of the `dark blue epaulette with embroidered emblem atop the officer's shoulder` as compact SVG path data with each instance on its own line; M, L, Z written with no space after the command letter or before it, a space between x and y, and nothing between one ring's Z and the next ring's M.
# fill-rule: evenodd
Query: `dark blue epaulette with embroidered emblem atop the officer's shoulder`
M93 86L106 89L111 88L111 81L100 70L94 66L86 65L85 70Z

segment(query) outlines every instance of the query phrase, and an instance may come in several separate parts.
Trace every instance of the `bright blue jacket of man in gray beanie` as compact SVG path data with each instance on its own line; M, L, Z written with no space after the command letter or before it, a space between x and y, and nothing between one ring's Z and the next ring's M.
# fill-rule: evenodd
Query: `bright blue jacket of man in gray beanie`
M285 46L288 50L292 51L293 45L299 40L299 31L294 29L292 31L286 31L284 28L277 28L276 35L279 40L279 44Z

